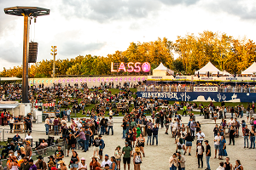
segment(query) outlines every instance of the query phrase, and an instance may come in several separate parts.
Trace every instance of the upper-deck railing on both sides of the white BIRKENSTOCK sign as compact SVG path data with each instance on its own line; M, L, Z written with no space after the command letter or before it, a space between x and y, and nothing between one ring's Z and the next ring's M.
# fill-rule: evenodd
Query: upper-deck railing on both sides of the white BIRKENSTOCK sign
M194 86L138 86L137 92L194 92ZM256 87L218 87L220 93L256 93Z

